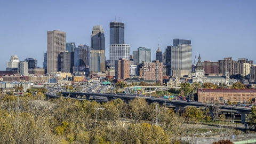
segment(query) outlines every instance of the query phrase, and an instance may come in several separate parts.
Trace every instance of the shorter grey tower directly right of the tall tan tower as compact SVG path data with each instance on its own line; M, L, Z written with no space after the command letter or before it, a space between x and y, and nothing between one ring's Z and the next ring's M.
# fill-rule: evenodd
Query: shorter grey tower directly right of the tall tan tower
M62 73L73 73L74 67L74 52L61 52L61 72Z

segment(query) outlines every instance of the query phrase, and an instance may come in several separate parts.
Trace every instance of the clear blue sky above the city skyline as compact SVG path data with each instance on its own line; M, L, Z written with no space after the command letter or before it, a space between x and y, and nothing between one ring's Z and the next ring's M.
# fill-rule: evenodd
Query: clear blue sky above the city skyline
M232 57L256 63L256 1L0 1L0 70L11 55L37 59L42 67L47 31L66 31L66 42L91 44L94 25L102 25L109 59L109 22L125 23L125 43L131 54L139 46L160 48L172 39L190 39L201 60Z

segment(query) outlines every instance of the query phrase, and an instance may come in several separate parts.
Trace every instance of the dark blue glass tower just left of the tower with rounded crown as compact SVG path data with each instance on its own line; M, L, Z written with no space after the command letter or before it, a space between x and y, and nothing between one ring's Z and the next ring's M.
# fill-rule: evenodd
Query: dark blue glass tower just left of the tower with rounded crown
M81 44L74 49L74 71L85 71L89 66L90 46Z

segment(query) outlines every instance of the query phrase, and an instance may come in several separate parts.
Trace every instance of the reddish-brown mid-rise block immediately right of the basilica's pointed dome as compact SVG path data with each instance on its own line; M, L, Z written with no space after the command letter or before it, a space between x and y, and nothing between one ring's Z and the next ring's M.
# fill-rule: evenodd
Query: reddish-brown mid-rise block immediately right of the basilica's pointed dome
M203 65L205 74L218 74L219 73L218 62L211 62L209 60L205 60L202 62L202 65Z

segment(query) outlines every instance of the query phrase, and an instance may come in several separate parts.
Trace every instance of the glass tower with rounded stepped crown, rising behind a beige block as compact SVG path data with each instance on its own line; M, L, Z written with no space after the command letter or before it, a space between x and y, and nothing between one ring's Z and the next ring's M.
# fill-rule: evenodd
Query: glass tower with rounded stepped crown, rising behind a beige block
M105 50L105 35L102 26L93 26L91 50Z

